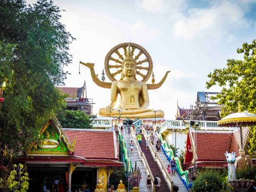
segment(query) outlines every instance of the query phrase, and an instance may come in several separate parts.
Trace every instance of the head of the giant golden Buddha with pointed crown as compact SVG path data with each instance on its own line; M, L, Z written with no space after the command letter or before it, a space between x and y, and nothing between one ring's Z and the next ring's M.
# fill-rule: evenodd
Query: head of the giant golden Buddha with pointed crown
M130 44L127 48L126 56L122 63L121 79L124 79L124 77L134 77L134 79L136 79L136 60L134 60L132 57Z

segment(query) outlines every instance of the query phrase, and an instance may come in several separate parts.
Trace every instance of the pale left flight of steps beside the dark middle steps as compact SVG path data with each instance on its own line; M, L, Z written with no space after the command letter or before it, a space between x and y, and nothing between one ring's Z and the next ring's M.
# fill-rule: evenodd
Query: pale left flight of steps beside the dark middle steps
M123 138L127 148L129 149L130 141L132 140L134 143L135 138L133 138L132 134L130 134L130 140L129 140L129 134L127 133L123 134ZM138 154L138 149L136 148L136 145L134 145L133 155L131 155L131 150L129 149L129 157L131 158L132 168L134 168L135 162L137 163L137 167L140 168L140 172L141 172L140 192L147 192L147 176L148 175L147 175L144 164L141 162L140 155Z

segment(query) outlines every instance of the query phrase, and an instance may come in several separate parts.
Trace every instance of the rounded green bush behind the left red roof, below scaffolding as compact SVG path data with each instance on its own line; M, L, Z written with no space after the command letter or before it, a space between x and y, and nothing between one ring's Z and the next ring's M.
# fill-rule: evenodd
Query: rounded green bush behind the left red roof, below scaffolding
M60 111L57 117L62 127L92 129L92 120L84 111L64 110Z

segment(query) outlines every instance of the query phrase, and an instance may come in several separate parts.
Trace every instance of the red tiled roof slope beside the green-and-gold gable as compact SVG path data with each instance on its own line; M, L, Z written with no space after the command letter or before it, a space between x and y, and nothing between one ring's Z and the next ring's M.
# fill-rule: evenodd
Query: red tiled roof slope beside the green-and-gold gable
M63 129L71 142L77 137L74 155L86 159L118 159L114 132Z

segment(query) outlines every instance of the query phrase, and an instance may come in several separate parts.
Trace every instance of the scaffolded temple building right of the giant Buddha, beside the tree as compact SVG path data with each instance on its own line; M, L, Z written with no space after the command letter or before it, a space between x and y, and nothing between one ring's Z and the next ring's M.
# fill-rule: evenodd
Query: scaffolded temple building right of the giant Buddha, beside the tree
M197 92L195 106L191 105L190 109L180 108L177 104L176 120L220 120L221 106L212 100L218 92Z

